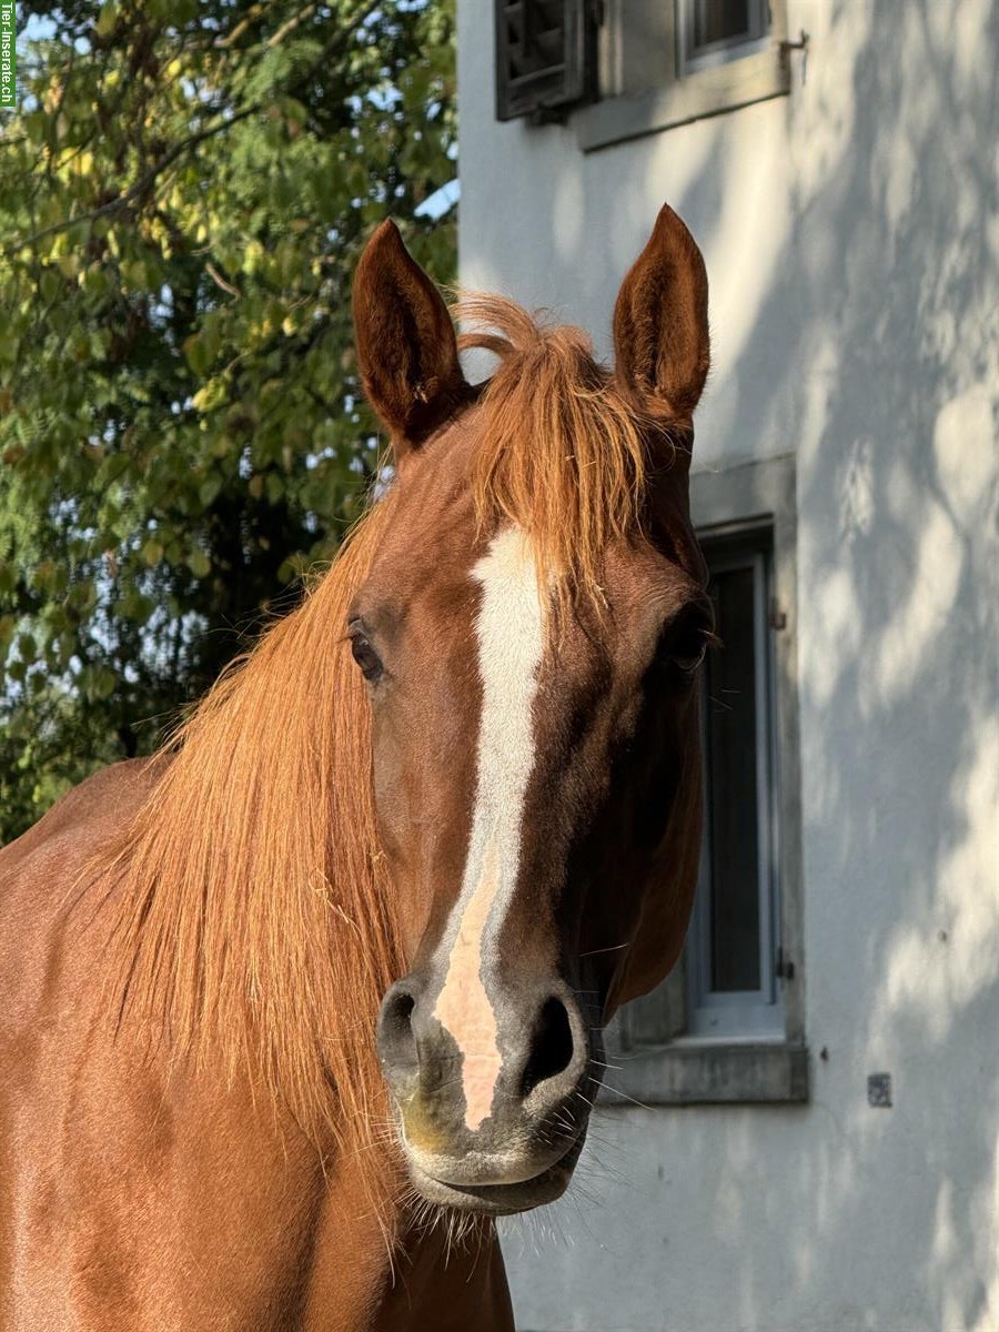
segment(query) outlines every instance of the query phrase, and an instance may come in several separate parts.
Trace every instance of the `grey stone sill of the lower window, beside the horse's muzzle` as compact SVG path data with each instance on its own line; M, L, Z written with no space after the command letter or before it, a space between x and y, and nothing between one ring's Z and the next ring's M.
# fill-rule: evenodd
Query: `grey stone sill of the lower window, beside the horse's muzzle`
M809 1099L809 1051L783 1042L686 1039L611 1056L605 1106L801 1104Z

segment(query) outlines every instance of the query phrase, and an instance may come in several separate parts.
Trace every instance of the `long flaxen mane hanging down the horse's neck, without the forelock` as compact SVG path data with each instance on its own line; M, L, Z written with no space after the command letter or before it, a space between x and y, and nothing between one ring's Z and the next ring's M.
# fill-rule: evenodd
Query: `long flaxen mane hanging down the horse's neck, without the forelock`
M386 1119L372 1028L400 963L345 623L392 509L209 691L109 852L123 1020L163 1028L172 1059L249 1071L349 1151Z

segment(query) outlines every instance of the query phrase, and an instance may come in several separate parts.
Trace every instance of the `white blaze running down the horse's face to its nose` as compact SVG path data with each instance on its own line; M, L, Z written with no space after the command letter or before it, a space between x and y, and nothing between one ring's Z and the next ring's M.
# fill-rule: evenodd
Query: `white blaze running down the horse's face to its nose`
M476 809L461 895L440 944L448 962L434 1016L461 1051L465 1123L474 1132L492 1111L502 1063L489 979L517 883L545 625L534 554L518 527L501 531L472 573L482 585Z

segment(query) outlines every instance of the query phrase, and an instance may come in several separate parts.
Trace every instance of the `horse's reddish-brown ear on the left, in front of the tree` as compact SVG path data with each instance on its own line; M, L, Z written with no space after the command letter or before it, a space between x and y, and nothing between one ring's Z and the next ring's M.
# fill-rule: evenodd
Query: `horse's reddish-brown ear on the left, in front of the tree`
M364 389L398 457L436 430L469 386L448 306L389 218L361 254L353 305Z

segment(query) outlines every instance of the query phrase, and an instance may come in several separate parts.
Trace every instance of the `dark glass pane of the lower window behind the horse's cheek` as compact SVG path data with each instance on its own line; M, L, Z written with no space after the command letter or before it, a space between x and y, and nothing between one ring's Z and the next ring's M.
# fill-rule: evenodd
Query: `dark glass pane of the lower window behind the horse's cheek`
M722 647L709 654L711 990L759 988L757 697L753 569L714 578Z

